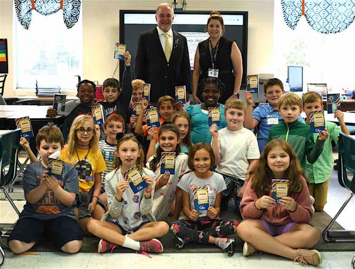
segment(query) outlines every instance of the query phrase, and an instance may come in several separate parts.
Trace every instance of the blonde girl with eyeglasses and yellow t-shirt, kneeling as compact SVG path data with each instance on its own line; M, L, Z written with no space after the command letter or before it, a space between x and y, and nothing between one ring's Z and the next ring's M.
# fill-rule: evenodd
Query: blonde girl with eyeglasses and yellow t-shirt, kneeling
M106 212L105 204L98 199L101 190L101 174L106 170L92 117L80 115L71 125L68 143L60 158L75 167L79 180L77 197L78 222L84 232L90 217L101 219Z

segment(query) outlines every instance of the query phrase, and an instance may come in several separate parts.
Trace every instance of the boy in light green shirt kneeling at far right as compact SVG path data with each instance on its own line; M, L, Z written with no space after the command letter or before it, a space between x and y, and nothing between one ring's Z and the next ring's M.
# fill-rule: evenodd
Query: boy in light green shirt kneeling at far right
M310 124L310 112L316 110L323 110L322 96L318 92L309 91L302 96L303 109L305 110L307 119L306 123ZM334 158L332 140L338 143L340 130L350 135L344 123L344 113L340 110L335 111L334 117L338 118L340 128L335 123L325 121L325 128L329 133L328 138L324 142L323 151L313 164L307 162L306 175L310 181L309 190L313 196L315 211L323 211L326 204L326 197L328 194L329 180L331 177ZM313 139L316 142L319 134L313 134Z

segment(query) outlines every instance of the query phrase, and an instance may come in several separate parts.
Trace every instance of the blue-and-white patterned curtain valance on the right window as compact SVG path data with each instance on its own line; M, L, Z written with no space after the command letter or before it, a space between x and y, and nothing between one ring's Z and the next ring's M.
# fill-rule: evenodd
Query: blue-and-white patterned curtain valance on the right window
M302 15L323 34L344 31L354 21L355 0L281 0L286 25L294 30Z

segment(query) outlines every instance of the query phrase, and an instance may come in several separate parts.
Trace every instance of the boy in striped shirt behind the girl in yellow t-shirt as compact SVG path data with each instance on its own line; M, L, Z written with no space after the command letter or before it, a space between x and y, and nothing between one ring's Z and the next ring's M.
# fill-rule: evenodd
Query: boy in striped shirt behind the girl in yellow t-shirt
M110 115L104 124L104 132L107 136L106 140L98 141L98 149L103 154L106 170L101 174L101 194L98 197L107 204L105 192L105 176L113 170L113 160L117 148L116 136L119 133L124 133L124 119L121 115Z

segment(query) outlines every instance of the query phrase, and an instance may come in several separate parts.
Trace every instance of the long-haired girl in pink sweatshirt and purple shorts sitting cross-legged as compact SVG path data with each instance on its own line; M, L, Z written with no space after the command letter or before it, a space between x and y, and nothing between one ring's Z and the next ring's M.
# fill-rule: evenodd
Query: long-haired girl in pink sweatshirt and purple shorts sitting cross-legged
M274 197L270 194L274 179L288 180L277 202L270 197ZM245 241L244 256L259 250L302 264L321 263L318 251L305 249L318 242L319 233L309 224L313 213L307 181L296 153L285 140L267 143L244 190L240 211L244 220L237 231Z

